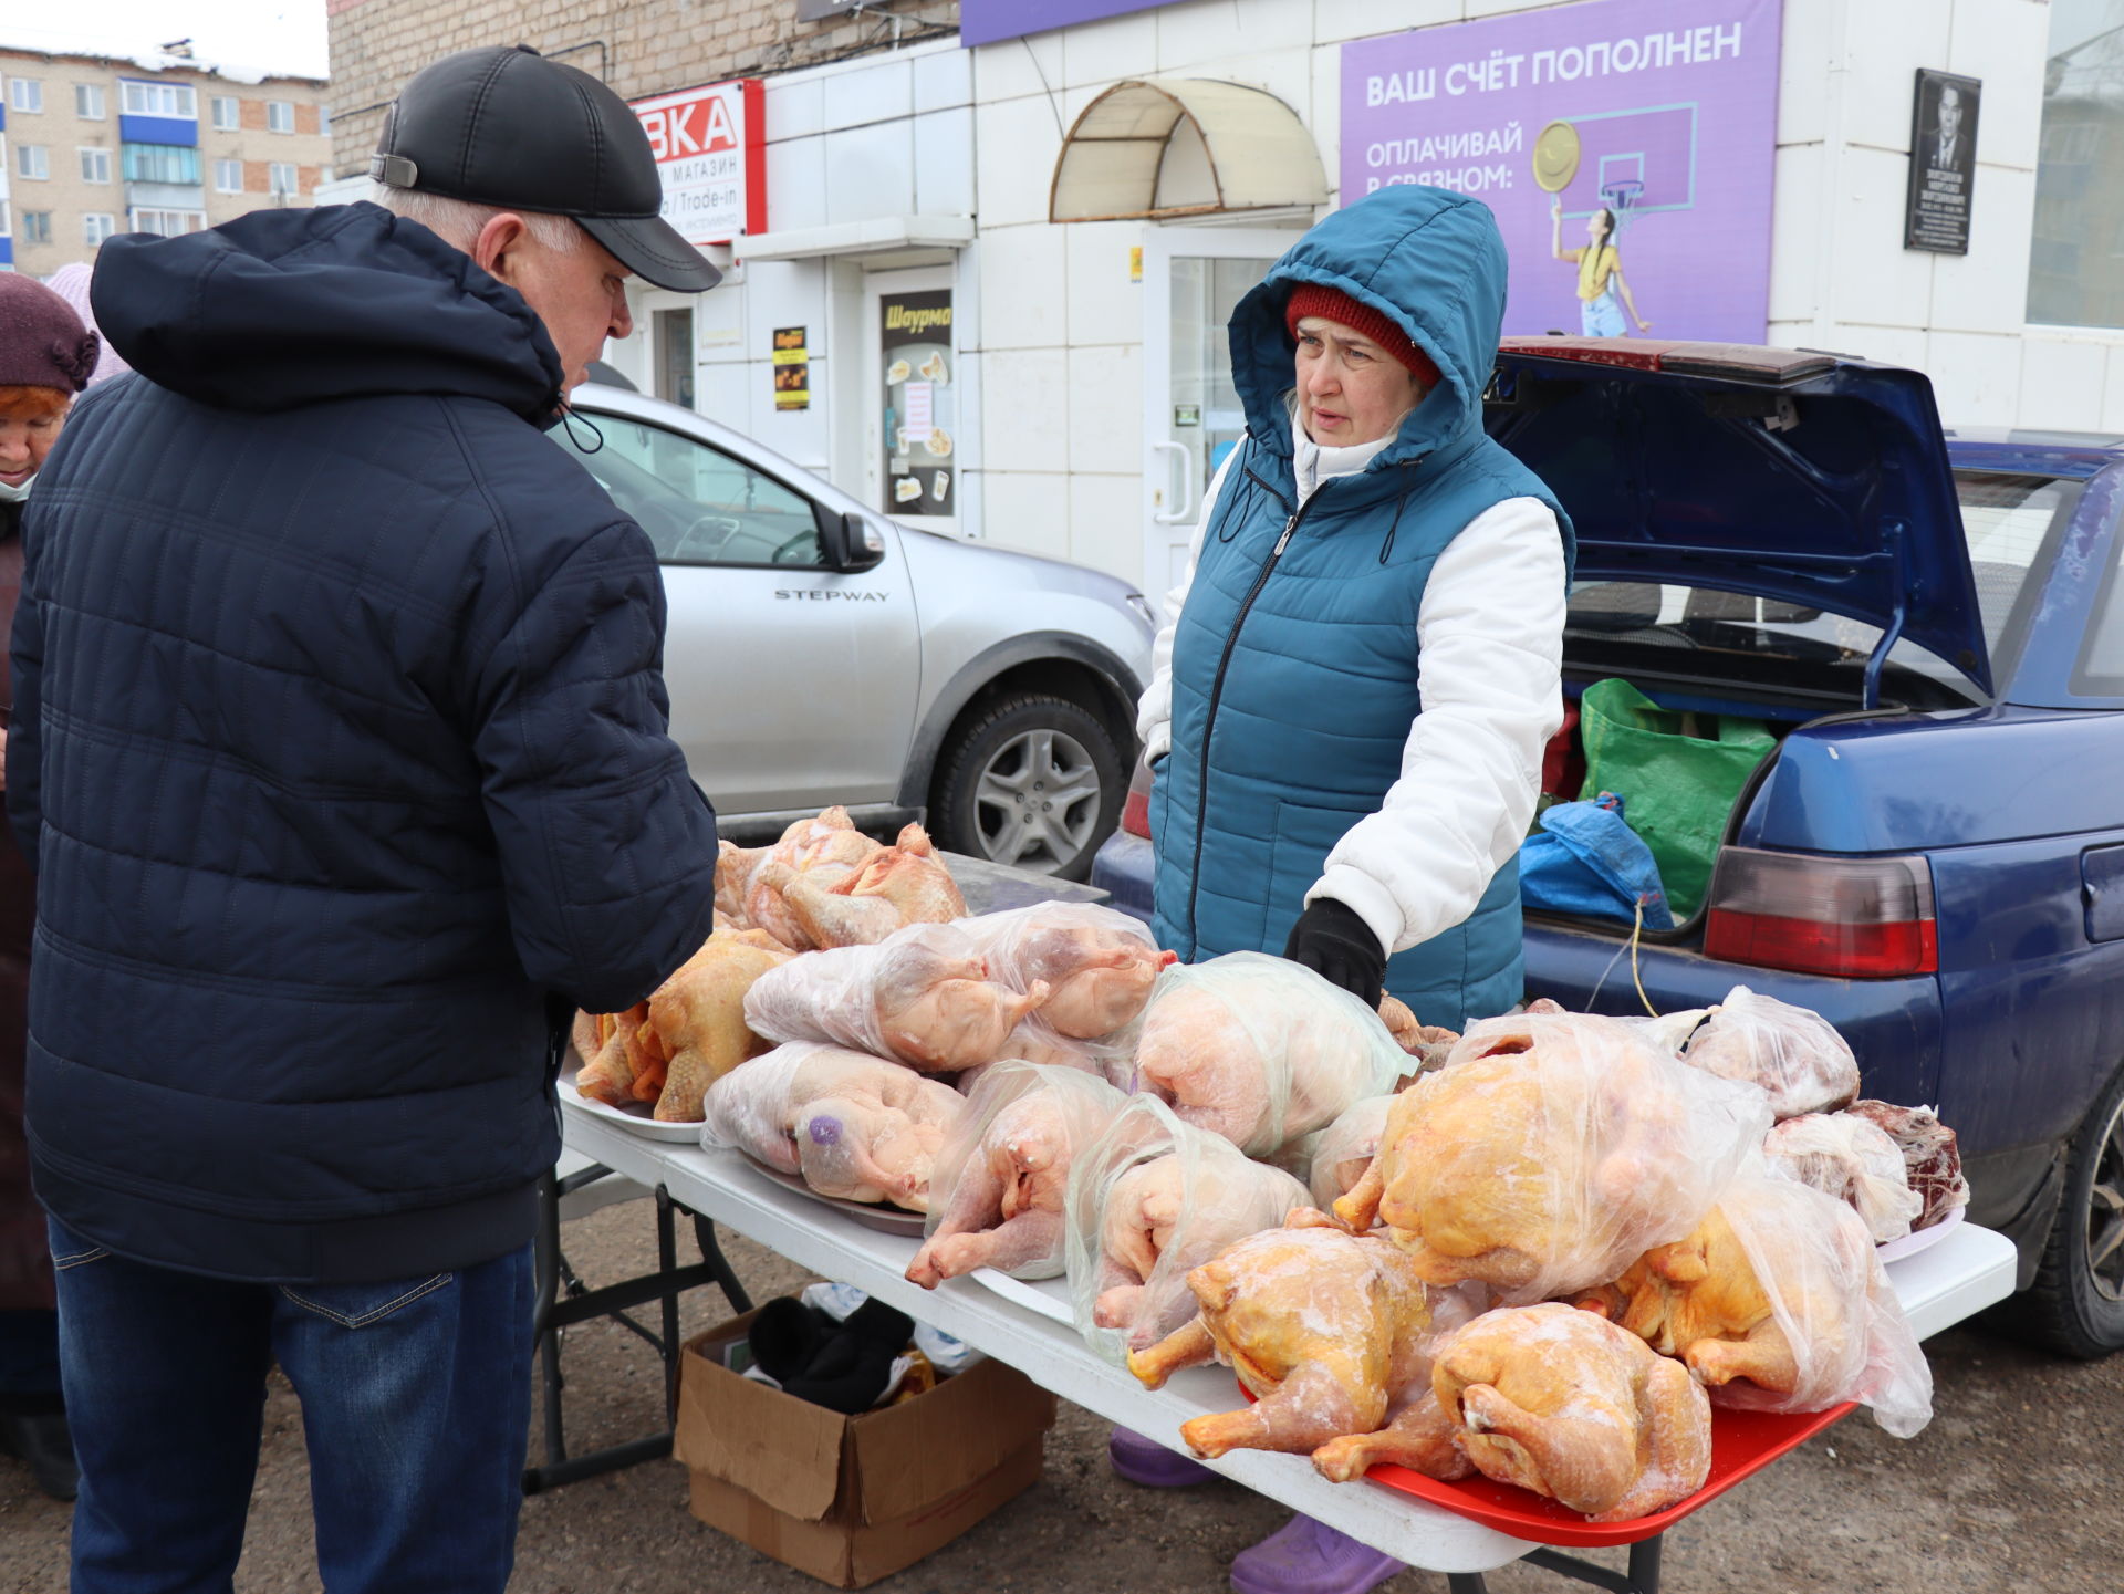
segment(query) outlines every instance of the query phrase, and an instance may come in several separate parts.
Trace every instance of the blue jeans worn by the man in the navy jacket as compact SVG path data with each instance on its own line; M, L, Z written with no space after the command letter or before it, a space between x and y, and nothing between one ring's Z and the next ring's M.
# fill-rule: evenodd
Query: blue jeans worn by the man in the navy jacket
M74 1594L227 1594L266 1369L302 1399L333 1594L501 1594L531 1422L531 1248L389 1284L240 1284L51 1225L81 1460Z

